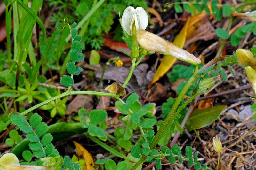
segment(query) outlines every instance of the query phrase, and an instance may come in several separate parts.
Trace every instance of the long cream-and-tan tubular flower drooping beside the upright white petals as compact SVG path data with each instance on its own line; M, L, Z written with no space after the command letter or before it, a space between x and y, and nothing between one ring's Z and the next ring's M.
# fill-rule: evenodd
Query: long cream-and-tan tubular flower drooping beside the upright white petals
M188 63L198 65L201 63L199 58L196 58L193 54L188 51L169 43L163 38L150 33L145 30L139 30L137 33L138 43L142 48L150 52L158 52L164 55L171 55L178 60L186 61Z

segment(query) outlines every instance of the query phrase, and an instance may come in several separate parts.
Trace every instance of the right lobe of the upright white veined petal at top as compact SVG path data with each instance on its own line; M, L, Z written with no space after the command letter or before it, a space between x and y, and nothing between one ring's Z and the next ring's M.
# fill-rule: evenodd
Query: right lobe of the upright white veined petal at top
M137 31L140 30L140 29L145 30L148 26L147 12L142 7L137 7L135 9L135 14L137 16L137 20L138 20L138 24L139 24L139 28L137 29L137 27L136 27L136 30Z

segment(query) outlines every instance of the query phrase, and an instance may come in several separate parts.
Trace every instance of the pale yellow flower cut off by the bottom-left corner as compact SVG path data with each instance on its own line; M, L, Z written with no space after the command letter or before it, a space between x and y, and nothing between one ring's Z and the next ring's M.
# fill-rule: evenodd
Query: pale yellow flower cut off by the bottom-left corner
M53 167L20 165L16 155L6 153L0 158L0 170L53 170Z

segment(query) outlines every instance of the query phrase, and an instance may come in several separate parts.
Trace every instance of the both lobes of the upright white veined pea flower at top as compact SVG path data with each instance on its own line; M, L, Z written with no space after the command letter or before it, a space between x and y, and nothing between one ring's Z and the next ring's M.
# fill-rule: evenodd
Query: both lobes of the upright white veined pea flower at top
M148 26L148 15L142 7L134 9L132 6L128 6L125 8L122 16L122 27L129 35L131 35L133 23L135 23L136 32L140 29L145 30Z

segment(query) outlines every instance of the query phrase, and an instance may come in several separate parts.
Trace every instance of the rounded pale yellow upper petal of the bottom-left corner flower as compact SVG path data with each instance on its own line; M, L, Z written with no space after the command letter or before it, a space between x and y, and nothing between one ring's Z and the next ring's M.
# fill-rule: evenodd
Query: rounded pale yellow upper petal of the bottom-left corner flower
M1 167L20 166L20 162L13 153L6 153L0 158Z

